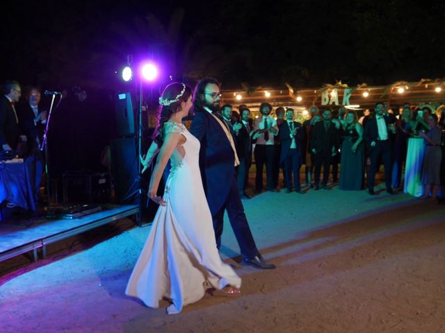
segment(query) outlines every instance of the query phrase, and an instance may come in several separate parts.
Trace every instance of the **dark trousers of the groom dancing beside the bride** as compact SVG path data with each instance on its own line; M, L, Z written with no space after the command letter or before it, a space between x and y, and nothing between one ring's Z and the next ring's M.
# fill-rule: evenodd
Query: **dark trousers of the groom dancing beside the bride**
M259 251L253 239L252 232L250 231L248 220L244 214L244 207L239 196L236 176L234 176L234 180L230 185L229 194L227 195L223 207L212 216L216 246L218 249L221 246L221 234L223 234L225 210L227 210L227 215L229 215L229 222L234 230L236 241L238 241L238 246L241 250L241 255L243 258L252 259L259 254Z

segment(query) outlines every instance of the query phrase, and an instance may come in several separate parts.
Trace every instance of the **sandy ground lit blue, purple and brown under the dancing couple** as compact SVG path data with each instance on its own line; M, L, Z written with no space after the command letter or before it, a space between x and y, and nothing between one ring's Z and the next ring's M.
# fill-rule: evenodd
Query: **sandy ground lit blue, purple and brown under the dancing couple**
M221 255L243 278L240 296L206 295L172 316L125 296L150 228L127 220L83 250L3 274L0 332L445 332L445 205L337 187L244 205L277 269L239 264L226 223Z

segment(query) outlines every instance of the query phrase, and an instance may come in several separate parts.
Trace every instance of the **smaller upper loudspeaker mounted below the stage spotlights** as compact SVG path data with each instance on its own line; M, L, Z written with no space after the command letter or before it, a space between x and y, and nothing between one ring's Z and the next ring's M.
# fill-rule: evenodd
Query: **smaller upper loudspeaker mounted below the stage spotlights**
M133 103L129 92L115 96L115 121L118 137L134 136Z

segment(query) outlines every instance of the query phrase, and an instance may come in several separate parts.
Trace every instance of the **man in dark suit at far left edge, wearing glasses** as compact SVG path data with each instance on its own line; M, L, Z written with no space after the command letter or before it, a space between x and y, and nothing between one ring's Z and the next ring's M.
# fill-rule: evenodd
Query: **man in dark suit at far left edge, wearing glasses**
M19 118L14 104L22 96L22 89L17 81L6 81L3 94L0 100L0 147L2 151L11 151L17 149L20 139Z

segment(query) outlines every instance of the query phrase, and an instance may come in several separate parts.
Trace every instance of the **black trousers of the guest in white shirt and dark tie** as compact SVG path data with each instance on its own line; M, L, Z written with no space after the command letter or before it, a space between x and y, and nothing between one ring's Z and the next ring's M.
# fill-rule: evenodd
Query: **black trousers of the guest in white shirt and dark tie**
M273 170L275 161L275 146L268 144L257 144L254 151L257 176L255 177L255 189L257 192L263 189L263 166L266 164L267 189L274 189Z

